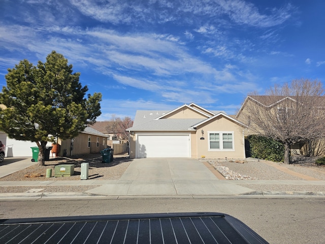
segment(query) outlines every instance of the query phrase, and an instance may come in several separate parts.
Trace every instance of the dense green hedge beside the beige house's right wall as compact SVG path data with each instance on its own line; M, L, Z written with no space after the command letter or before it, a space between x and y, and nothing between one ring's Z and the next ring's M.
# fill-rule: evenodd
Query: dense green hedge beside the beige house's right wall
M265 159L273 162L283 162L284 145L272 138L250 135L245 143L246 156Z

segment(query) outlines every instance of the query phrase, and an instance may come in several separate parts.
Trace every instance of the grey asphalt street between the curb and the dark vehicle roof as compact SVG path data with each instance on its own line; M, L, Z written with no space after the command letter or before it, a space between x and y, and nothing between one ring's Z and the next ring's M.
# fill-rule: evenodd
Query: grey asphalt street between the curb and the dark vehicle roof
M222 212L269 243L324 243L325 199L117 199L0 202L2 219L59 216Z

